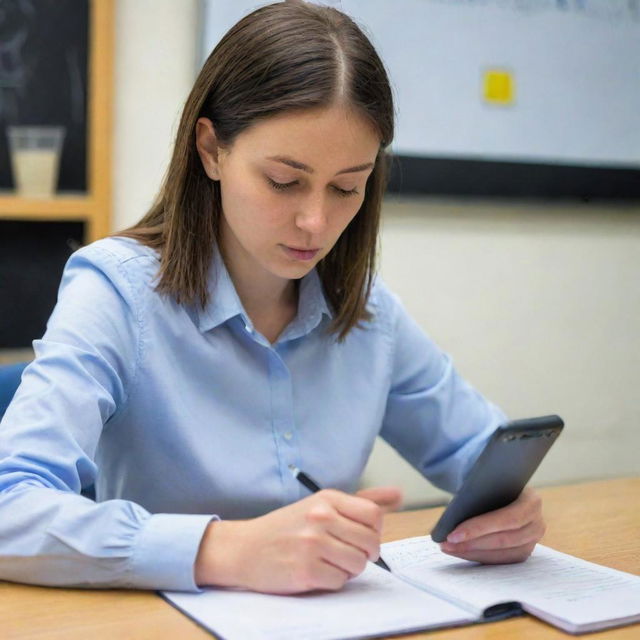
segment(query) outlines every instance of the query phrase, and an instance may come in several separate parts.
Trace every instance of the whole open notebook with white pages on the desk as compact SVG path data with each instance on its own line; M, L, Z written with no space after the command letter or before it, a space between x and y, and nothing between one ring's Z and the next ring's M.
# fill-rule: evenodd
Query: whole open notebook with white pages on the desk
M369 563L336 593L207 589L161 595L224 640L375 638L523 611L570 633L640 621L640 577L542 545L512 565L452 558L427 536L384 544L382 556L392 573Z

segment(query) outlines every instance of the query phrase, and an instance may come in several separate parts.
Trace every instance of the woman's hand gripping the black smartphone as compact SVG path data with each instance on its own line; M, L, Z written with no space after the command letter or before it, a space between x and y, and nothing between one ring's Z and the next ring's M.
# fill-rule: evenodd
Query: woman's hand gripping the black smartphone
M459 524L440 548L449 555L484 564L522 562L544 532L542 500L527 488L510 505Z

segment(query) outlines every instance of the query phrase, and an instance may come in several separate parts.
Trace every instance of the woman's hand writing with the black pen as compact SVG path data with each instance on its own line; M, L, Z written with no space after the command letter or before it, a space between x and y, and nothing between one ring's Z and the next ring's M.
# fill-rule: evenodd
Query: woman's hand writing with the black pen
M195 564L196 583L266 593L337 590L380 555L385 511L400 491L333 489L252 520L213 521Z

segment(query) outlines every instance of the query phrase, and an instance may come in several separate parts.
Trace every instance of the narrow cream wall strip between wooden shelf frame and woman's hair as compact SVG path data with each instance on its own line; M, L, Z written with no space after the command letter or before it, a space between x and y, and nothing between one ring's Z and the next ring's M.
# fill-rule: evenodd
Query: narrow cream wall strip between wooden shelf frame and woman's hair
M117 0L113 229L149 208L196 65L197 0Z

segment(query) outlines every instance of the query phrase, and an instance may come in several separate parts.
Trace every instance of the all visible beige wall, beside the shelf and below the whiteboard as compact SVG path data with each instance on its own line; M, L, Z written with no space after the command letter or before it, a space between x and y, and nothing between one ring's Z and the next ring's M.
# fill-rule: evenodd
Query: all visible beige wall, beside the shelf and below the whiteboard
M114 228L155 195L193 82L197 0L117 3ZM512 417L566 431L537 484L640 473L640 206L388 201L382 272ZM440 494L384 446L367 484Z

